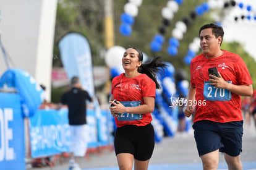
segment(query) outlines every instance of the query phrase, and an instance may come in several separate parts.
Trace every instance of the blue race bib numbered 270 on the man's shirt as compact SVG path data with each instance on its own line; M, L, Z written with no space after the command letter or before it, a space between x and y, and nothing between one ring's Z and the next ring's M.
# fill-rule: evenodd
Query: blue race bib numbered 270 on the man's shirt
M232 83L231 81L226 82ZM213 85L210 85L210 82L204 82L203 96L205 97L205 100L208 101L229 101L232 98L231 91L223 88L216 88Z

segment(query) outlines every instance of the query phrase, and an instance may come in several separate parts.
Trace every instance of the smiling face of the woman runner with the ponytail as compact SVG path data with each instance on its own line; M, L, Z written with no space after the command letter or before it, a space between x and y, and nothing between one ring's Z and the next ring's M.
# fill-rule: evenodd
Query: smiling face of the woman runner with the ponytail
M124 56L122 57L122 67L124 70L137 70L142 65L142 61L139 61L139 53L133 48L126 49Z

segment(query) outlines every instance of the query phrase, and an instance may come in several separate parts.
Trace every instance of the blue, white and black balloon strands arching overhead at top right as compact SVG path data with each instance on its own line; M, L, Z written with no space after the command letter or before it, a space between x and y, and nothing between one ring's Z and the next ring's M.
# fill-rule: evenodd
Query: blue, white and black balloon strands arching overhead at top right
M164 44L164 35L166 29L174 18L174 14L179 10L179 6L183 3L182 0L170 0L166 6L161 9L161 15L163 17L163 23L158 28L158 33L153 36L153 40L150 42L150 49L153 52L159 52L162 50ZM142 5L142 0L130 0L124 5L124 13L121 15L121 25L119 26L119 32L124 36L130 36L132 34L132 25L134 24L134 17L138 15L139 7ZM194 11L191 11L189 16L185 16L182 20L175 23L175 27L171 32L171 37L168 40L168 48L166 51L170 56L177 56L179 41L182 40L184 33L187 32L187 26L193 22L197 16L202 16L206 12L214 9L228 9L229 7L238 7L241 10L245 10L248 14L242 14L241 16L234 17L234 20L256 20L256 11L250 4L244 4L244 2L236 1L223 1L223 0L209 0L195 7ZM221 25L220 22L217 22ZM199 46L198 38L190 43L186 56L184 57L184 63L189 65L193 57L198 52Z

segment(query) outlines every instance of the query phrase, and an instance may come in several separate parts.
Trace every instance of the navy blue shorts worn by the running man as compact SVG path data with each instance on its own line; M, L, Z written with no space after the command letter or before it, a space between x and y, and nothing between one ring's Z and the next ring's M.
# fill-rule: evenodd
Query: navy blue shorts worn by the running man
M219 123L198 121L193 125L195 142L199 156L220 149L230 156L238 156L242 151L244 121Z

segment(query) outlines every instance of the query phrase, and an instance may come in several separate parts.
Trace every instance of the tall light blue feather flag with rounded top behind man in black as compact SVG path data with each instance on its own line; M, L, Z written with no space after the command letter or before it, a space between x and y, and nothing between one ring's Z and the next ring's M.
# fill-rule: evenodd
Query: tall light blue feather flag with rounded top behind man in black
M92 54L87 38L80 33L68 33L59 41L59 51L67 77L78 76L83 88L94 96Z

